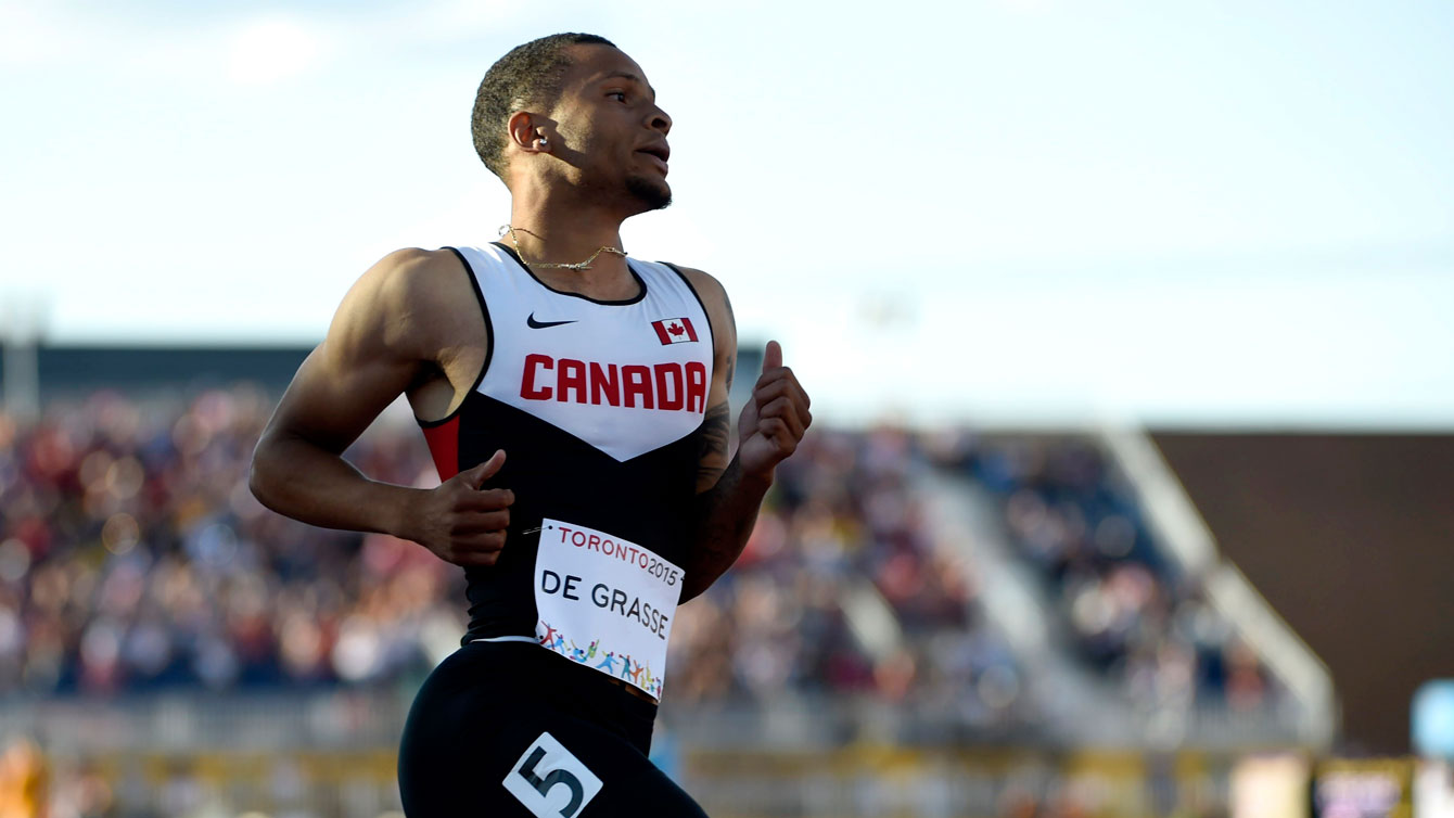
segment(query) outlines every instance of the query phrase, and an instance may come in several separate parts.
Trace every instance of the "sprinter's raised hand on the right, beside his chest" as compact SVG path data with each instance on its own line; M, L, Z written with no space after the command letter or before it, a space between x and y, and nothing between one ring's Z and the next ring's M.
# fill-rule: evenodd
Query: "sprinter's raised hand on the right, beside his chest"
M813 423L813 401L798 378L782 365L782 346L768 341L762 378L737 418L737 462L749 475L772 479L772 471L798 448Z

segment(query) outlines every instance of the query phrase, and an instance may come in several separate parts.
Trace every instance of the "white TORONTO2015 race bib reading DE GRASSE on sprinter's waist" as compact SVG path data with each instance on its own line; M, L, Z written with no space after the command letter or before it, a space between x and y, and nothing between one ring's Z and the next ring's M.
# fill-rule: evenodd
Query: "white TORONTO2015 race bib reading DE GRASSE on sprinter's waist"
M541 520L535 638L557 654L662 697L683 571L595 529Z

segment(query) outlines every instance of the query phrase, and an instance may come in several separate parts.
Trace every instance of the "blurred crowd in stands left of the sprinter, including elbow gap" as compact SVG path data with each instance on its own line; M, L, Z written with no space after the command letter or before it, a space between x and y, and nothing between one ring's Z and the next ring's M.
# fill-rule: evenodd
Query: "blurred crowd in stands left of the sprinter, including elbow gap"
M236 388L0 416L0 692L364 683L458 642L449 565L252 497L270 408ZM350 458L409 484L416 443L374 436Z

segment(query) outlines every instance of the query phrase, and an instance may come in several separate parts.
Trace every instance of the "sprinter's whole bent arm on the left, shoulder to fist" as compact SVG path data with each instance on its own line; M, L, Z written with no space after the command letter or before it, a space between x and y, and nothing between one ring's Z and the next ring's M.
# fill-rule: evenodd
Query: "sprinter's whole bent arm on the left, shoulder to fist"
M503 452L432 490L369 479L342 456L433 366L433 327L448 308L438 282L458 276L454 267L449 251L398 250L343 296L253 450L249 487L263 506L314 526L411 539L458 565L494 564L515 495L478 485Z

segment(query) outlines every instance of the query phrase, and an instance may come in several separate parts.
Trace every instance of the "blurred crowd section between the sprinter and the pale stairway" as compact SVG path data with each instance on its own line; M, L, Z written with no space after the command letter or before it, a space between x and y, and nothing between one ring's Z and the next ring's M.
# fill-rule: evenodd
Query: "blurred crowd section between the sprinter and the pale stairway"
M973 567L925 523L910 488L925 468L901 430L814 427L778 466L733 571L679 612L673 700L801 689L1013 718L1019 668L984 622Z

